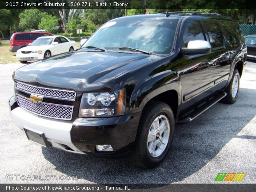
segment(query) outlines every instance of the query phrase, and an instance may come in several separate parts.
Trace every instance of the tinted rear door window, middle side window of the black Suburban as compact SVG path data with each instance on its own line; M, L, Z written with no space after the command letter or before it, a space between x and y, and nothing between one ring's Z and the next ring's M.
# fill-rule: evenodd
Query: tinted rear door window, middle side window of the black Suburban
M223 45L223 38L218 23L211 20L203 21L204 29L210 39L212 48L220 47Z

